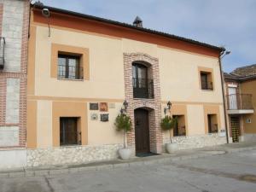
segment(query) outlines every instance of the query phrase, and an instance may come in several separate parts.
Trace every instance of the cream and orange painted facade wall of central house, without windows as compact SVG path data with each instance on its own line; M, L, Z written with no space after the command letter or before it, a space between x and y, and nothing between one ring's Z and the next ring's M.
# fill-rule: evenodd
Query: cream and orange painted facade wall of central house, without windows
M158 37L152 38L155 38L155 43L149 43L125 35L120 37L119 34L110 35L108 32L92 32L93 27L82 30L65 24L60 26L54 20L58 15L52 15L49 37L48 26L41 17L37 14L37 9L32 10L27 105L33 113L28 111L27 114L27 148L59 147L60 119L63 117L78 118L82 146L122 143L123 137L115 131L114 119L125 100L129 103L131 117L137 108L148 110L149 135L152 137L150 151L154 153L162 153L162 145L169 137L160 131L160 118L165 115L164 108L168 101L172 102L172 115L182 116L180 122L185 129L183 137L208 135L207 115L210 114L216 115L218 131L215 134L218 135L220 130L225 129L219 63L215 49L205 48L209 53L204 54L201 50L204 49L203 46L198 45L200 48L191 50L182 46L164 46L157 43ZM132 31L125 28L122 30ZM135 33L140 32L135 30ZM56 51L82 55L80 62L83 63L84 78L58 78ZM126 70L131 67L128 66L127 69L125 65L132 65L136 61L148 63L145 65L152 67L153 99L130 98L132 89L129 90L127 86L132 74L127 76L129 72ZM212 74L212 90L201 89L200 73L205 70ZM107 111L90 110L91 103L100 102L107 102ZM108 114L108 121L101 121L102 114ZM93 119L93 115L98 119ZM132 119L133 129L135 119ZM135 133L128 134L127 142L135 148Z

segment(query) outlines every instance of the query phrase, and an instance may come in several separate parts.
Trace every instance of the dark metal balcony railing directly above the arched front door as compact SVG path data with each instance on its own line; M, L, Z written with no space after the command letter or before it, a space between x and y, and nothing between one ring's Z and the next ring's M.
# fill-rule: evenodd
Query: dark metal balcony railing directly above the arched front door
M153 79L133 78L133 97L153 99L154 98L154 81Z

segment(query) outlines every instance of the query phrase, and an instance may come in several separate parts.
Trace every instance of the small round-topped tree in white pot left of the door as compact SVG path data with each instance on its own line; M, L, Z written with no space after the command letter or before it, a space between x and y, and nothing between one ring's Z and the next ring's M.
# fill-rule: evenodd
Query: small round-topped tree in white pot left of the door
M131 148L126 147L125 135L127 131L131 131L131 118L125 113L120 113L114 123L117 131L124 133L124 148L119 148L119 156L122 160L129 160L131 157Z

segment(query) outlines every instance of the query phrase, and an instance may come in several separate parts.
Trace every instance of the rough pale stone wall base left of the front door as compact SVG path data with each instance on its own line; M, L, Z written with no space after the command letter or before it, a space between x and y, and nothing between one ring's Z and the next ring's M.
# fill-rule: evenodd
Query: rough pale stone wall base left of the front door
M118 158L122 144L27 149L26 166L82 164Z

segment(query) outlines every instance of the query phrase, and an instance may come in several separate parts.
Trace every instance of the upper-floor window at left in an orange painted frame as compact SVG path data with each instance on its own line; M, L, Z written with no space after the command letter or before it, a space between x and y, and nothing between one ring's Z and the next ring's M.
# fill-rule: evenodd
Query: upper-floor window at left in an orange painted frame
M80 66L80 56L58 55L59 79L83 79L83 67Z

